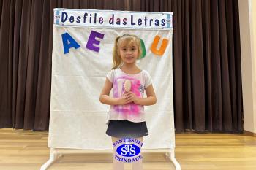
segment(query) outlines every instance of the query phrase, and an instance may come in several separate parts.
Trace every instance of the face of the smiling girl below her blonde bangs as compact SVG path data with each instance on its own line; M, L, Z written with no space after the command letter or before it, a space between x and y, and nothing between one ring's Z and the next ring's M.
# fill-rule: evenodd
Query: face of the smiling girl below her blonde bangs
M121 60L127 64L134 64L138 59L138 47L137 45L132 42L121 42L119 48Z

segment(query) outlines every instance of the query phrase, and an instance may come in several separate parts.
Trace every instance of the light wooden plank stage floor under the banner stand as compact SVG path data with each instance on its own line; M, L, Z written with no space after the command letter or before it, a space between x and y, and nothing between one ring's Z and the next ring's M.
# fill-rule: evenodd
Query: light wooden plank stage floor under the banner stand
M0 170L40 169L48 161L48 133L0 129ZM255 170L256 137L244 134L176 134L176 159L182 170ZM68 153L49 170L110 170L112 154ZM125 169L131 169L129 163ZM144 170L172 170L163 153L143 154Z

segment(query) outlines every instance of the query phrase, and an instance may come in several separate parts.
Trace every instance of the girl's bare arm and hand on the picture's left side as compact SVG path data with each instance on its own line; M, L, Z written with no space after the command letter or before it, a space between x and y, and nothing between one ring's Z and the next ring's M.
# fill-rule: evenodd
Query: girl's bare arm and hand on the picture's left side
M113 98L109 96L109 93L112 89L112 82L106 78L105 85L102 88L102 92L99 96L99 101L102 102L102 104L108 104L108 105L124 105L132 102L131 98L128 98L127 94L124 94L124 96L121 96L121 98Z

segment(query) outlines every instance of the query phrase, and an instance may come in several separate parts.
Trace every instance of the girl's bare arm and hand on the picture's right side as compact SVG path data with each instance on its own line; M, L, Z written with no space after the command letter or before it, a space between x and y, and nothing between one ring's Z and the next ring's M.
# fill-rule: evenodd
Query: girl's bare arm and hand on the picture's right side
M154 93L153 85L149 85L147 88L145 88L145 90L146 90L146 95L147 95L146 98L138 98L132 92L128 92L127 96L129 98L132 98L132 101L135 104L140 104L140 105L143 105L143 106L149 106L149 105L156 104L157 103L157 97L156 97L156 94Z

